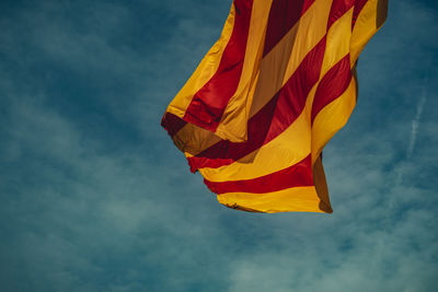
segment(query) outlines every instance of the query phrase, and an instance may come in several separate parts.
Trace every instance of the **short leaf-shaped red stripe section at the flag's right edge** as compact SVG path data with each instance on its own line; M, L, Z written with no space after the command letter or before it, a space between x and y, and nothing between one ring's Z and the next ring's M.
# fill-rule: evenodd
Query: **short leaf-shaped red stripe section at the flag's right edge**
M345 92L351 80L349 55L333 66L318 85L312 104L312 122L318 113Z

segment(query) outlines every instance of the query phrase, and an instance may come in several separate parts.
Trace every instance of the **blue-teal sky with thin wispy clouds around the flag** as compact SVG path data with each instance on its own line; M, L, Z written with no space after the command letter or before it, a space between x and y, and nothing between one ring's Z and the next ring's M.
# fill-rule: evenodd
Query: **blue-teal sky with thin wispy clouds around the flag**
M437 2L361 54L332 214L222 207L160 127L230 5L0 2L1 291L436 291Z

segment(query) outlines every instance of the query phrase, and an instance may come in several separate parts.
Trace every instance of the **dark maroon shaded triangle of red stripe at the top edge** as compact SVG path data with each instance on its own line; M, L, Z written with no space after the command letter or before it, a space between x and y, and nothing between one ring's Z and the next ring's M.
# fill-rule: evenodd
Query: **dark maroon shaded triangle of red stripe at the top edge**
M270 5L263 56L293 27L315 0L274 0Z

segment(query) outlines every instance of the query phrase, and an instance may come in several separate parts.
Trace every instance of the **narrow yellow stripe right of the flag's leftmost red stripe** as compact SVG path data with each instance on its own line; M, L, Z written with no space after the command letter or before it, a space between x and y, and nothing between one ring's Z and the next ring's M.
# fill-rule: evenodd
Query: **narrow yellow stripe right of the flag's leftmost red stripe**
M216 135L233 142L246 140L246 120L255 85L256 75L265 43L267 20L273 0L255 0L251 12L250 31L242 74L235 94L229 101Z

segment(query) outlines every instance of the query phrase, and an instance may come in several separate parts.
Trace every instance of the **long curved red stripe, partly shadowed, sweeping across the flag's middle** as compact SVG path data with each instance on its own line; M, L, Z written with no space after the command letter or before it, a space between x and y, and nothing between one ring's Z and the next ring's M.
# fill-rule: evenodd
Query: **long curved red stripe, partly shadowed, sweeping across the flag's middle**
M301 114L310 90L318 82L325 50L325 37L306 56L279 92L247 122L247 140L226 140L188 157L192 172L228 165L266 144L287 129Z

